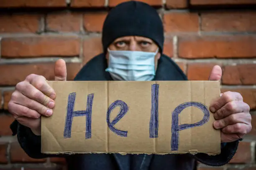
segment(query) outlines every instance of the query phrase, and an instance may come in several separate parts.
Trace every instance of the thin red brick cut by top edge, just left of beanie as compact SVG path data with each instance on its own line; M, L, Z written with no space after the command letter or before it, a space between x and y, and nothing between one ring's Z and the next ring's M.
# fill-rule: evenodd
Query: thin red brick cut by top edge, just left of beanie
M105 0L72 0L72 7L104 7Z

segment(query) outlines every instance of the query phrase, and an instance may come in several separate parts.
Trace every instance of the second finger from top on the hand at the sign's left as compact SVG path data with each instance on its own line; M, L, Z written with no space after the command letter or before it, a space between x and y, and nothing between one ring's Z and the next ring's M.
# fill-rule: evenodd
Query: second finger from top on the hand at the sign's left
M46 96L43 92L38 90L36 87L31 85L30 83L23 81L19 82L16 85L16 89L20 91L23 95L27 96L28 98L32 100L36 100L37 102L41 103L42 105L45 105L49 108L54 107L54 100L52 100L50 97Z

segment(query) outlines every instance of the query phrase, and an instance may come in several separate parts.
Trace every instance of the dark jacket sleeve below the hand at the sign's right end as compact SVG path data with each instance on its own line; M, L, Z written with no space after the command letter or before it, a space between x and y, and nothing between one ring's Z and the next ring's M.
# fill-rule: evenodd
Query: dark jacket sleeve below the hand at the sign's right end
M242 139L241 139L242 140ZM221 152L218 155L207 155L205 153L198 153L194 155L194 158L209 166L222 166L227 164L235 155L236 150L238 148L239 140L230 143L222 143L221 144Z

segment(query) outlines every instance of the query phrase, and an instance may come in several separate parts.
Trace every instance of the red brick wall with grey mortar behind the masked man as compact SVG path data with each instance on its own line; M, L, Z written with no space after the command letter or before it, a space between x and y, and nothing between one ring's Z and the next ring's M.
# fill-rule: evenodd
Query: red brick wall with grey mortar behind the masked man
M59 158L29 158L11 136L10 95L30 73L53 80L58 58L67 61L68 80L72 80L82 65L102 52L102 22L110 7L123 1L0 0L1 170L65 169L65 161ZM253 129L230 164L199 165L198 170L256 170L256 12L249 10L256 1L142 1L158 9L164 21L164 52L189 80L207 80L213 65L219 64L222 91L240 92L251 107Z

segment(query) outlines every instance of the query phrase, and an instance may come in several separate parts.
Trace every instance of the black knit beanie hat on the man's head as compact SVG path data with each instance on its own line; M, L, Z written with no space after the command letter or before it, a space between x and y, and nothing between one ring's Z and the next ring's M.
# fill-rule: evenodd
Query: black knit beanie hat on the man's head
M141 36L153 40L163 51L164 28L157 11L150 5L128 1L110 10L102 30L102 45L106 54L108 46L123 36Z

